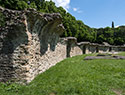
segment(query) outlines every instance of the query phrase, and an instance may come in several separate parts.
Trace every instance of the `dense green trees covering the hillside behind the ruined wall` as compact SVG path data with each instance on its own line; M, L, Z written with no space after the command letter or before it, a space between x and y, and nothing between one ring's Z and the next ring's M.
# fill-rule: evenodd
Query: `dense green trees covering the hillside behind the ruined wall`
M56 7L52 1L45 0L0 0L0 6L14 9L25 10L28 8L35 8L42 13L60 13L62 16L65 32L62 37L76 37L78 42L90 41L94 43L108 42L112 45L125 44L125 26L114 28L114 22L112 28L91 28L85 25L81 20L76 20L74 16L66 12L62 7ZM2 16L0 14L0 16ZM0 18L2 22L4 18ZM2 23L0 23L2 24ZM2 26L2 25L0 25Z

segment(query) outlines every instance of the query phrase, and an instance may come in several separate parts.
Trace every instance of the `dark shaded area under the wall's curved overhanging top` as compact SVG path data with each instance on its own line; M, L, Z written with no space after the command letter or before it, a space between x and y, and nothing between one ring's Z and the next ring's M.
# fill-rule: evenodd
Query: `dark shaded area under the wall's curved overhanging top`
M44 55L48 49L55 51L59 35L63 30L61 27L60 31L58 27L61 23L60 19L57 18L53 20L53 16L51 17L51 15L47 15L47 17L45 15L44 18L51 18L52 20L46 21L39 15L30 15L30 13L27 13L28 30L32 34L38 34L41 56Z

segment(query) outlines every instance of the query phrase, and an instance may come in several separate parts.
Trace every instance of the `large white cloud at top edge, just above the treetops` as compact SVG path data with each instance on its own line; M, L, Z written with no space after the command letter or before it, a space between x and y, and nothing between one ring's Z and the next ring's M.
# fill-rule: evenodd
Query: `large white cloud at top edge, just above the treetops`
M45 1L50 1L50 0L45 0ZM52 0L53 2L55 2L56 6L62 6L64 9L69 9L69 4L70 4L70 0Z

